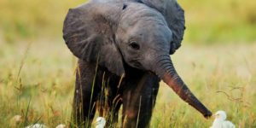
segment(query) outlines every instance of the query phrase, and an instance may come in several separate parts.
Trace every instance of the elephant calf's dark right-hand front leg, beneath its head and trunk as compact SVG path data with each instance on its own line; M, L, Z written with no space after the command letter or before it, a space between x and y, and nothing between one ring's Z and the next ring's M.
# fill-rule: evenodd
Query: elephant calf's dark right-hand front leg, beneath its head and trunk
M152 73L144 73L136 84L125 84L123 94L123 127L149 126L160 79Z

